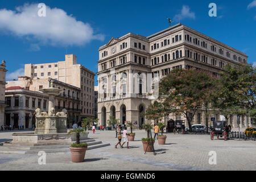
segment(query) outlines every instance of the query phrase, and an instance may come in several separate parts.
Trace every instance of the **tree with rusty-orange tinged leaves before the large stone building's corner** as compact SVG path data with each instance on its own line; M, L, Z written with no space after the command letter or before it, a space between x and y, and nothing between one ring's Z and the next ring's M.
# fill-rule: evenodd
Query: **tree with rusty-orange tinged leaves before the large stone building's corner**
M203 105L206 90L212 76L205 71L196 69L174 69L160 81L159 100L164 113L184 114L189 129L192 128L193 117Z

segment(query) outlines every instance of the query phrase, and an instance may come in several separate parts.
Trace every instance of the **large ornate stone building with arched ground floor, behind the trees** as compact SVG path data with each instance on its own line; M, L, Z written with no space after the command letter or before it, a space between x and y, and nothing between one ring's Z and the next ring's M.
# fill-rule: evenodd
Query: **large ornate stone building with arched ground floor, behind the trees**
M156 101L157 80L172 69L199 68L218 77L225 65L247 63L248 57L180 23L147 37L129 33L112 38L98 51L98 118L105 126L110 115L137 127L150 122L143 113ZM220 119L220 115L210 118ZM166 123L170 119L185 120L172 113L163 118ZM237 119L240 127L250 123L249 118L237 116L229 122L237 127ZM195 124L205 125L205 120L203 110L194 117Z

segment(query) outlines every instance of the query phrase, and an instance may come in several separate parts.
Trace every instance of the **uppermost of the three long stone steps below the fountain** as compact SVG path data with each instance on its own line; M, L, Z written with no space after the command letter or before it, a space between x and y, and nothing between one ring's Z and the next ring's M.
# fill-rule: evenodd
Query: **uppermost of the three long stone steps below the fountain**
M94 139L86 139L86 140L81 140L80 143L88 143L88 142L94 142ZM11 142L6 142L3 143L3 146L57 146L57 145L65 145L65 144L72 144L75 142L47 142L47 143L11 143Z

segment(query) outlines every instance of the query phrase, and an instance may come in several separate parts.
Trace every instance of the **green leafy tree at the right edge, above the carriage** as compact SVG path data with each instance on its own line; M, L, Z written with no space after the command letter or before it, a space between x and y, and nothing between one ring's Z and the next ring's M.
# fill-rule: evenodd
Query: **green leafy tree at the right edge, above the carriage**
M227 65L216 80L213 104L226 121L232 114L247 115L252 118L256 113L255 102L255 67L242 64Z

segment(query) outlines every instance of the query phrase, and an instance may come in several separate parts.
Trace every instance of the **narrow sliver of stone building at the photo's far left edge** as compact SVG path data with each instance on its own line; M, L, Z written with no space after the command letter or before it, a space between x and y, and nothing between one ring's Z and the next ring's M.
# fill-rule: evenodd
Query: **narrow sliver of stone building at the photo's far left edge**
M2 61L0 64L0 127L4 124L4 118L5 118L5 76L7 70L5 69L6 64L5 60Z

